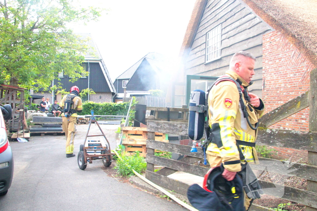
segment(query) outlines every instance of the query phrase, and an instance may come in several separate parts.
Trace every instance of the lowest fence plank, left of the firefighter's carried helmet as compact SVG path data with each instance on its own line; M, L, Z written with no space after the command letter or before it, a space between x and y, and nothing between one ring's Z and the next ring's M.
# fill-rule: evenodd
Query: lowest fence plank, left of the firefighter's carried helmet
M189 184L180 182L178 180L174 180L171 179L169 177L160 175L156 172L152 172L152 171L146 171L145 172L145 177L146 179L150 180L151 182L169 189L169 190L173 190L176 193L182 194L182 195L187 195L187 189L189 188Z

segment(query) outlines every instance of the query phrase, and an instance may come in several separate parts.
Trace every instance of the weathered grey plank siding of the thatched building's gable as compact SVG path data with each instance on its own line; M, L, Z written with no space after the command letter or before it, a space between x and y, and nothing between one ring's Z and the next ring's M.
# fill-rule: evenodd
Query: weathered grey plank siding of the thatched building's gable
M205 63L206 33L222 24L221 58ZM239 0L209 0L199 23L186 62L186 74L219 76L229 69L229 62L237 51L247 51L256 57L251 87L262 96L262 35L270 28Z

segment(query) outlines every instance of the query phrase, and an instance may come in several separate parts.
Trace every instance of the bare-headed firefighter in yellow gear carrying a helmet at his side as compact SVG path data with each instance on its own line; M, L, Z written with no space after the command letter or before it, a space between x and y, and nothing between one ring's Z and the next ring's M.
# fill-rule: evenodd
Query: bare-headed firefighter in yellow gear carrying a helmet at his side
M230 60L230 70L225 76L234 78L243 90L247 89L252 84L250 81L255 74L255 59L244 51L235 53ZM255 94L249 93L249 97L248 102L243 96L243 102L249 114L249 123L255 127L258 118L264 112L264 104ZM239 146L245 159L240 160L236 142L241 140L254 143L257 130L252 129L244 118L239 101L237 85L229 80L215 84L208 97L209 126L213 143L207 147L207 159L211 167L222 163L225 168L222 175L229 181L233 180L238 171L241 171L241 163L257 161L255 148L241 145L241 142ZM244 144L247 143L244 142ZM249 209L251 202L251 199L245 195L246 210Z

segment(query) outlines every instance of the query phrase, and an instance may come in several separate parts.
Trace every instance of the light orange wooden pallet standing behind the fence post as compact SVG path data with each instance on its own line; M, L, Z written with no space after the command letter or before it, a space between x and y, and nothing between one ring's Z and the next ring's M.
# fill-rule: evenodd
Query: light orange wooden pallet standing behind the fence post
M134 155L136 151L140 156L146 157L146 127L122 127L122 145L125 146L126 155ZM155 140L168 142L168 135L155 133Z

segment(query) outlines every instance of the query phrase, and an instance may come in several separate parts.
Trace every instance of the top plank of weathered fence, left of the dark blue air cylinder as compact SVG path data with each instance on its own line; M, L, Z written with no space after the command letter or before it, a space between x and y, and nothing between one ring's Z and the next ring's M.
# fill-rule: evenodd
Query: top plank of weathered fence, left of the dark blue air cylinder
M169 121L147 121L147 131L170 133L176 135L188 135L188 123ZM164 132L163 132L164 131ZM149 139L149 138L148 138Z

